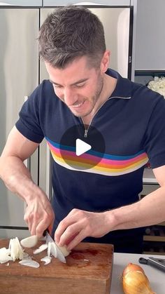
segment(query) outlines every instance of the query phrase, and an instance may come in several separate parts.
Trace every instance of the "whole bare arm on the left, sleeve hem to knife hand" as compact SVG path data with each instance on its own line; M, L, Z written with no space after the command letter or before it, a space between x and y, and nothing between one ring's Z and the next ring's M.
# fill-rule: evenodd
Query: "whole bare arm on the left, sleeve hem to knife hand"
M55 216L48 197L33 182L23 163L37 147L38 143L31 142L14 127L0 157L0 177L11 192L26 201L24 220L31 234L42 236L44 229L52 227Z

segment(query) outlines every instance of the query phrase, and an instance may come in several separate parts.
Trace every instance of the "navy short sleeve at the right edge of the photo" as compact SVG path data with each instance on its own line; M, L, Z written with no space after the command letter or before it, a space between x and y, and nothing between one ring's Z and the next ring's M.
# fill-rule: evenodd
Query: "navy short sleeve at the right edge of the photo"
M165 165L165 100L161 95L157 97L148 122L145 152L152 168Z

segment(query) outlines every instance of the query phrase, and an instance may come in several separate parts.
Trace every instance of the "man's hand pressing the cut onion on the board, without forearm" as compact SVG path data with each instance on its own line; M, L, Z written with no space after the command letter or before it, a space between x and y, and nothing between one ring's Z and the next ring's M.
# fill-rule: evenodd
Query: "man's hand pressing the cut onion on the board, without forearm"
M55 232L57 245L66 245L67 249L71 250L87 236L104 236L110 230L109 213L110 211L92 213L74 208L64 220L59 222Z

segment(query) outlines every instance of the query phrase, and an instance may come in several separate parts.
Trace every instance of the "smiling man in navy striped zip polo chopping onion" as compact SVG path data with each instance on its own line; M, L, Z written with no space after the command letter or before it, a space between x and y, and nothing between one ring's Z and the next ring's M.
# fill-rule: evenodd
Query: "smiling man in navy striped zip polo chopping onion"
M108 69L103 26L86 8L57 9L38 40L50 81L24 103L1 155L1 178L27 202L31 234L53 226L69 250L84 240L141 253L143 228L165 220L165 100ZM62 138L79 126L88 138L101 133L105 152L76 156ZM53 157L52 206L23 163L43 138ZM161 187L138 201L148 159Z

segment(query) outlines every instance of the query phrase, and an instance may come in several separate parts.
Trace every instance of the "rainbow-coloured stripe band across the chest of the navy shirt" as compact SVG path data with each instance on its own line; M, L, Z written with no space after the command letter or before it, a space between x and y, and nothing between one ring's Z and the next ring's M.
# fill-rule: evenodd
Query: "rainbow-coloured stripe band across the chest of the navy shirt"
M76 156L76 147L59 145L48 138L45 139L55 162L73 171L111 176L124 175L138 170L148 162L148 155L144 150L130 156L118 156L101 154L90 149L81 156Z

